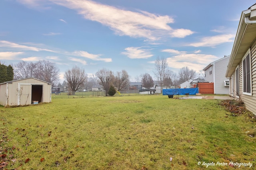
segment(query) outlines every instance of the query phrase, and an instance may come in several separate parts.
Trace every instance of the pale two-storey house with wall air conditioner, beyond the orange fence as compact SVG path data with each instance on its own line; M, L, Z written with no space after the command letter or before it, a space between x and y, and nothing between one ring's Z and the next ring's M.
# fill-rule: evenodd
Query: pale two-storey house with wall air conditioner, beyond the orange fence
M229 59L230 55L225 55L203 69L204 79L214 83L214 94L229 94L229 79L225 76Z

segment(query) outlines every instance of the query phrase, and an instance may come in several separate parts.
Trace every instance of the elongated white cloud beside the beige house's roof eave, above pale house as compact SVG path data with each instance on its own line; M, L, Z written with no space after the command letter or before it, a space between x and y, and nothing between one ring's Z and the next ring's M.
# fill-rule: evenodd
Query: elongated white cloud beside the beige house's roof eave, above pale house
M190 43L188 46L193 47L215 47L216 45L220 45L222 43L233 42L234 34L222 34L216 35L212 37L204 37L198 43Z

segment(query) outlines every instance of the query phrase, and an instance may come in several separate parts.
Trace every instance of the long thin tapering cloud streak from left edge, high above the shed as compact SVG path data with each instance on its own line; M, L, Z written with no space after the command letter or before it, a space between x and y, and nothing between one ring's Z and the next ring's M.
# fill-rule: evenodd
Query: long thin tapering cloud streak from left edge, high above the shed
M49 49L42 49L39 47L33 47L29 45L22 45L22 44L17 44L17 43L12 43L10 41L0 41L0 47L7 47L9 49L21 49L24 51L48 51L48 52L54 52Z

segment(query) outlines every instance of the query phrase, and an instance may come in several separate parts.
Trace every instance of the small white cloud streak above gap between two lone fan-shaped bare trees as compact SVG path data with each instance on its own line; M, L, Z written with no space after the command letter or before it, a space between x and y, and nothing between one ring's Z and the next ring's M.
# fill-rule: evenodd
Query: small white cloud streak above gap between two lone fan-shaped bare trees
M111 58L100 58L100 54L90 54L86 51L74 51L72 53L66 53L67 55L73 55L78 57L85 57L94 61L112 62Z

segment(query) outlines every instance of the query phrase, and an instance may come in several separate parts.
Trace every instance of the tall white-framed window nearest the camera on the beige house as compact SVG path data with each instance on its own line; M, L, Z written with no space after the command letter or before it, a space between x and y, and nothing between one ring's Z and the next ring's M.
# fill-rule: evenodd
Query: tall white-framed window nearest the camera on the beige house
M242 60L243 65L243 94L251 95L250 50Z

